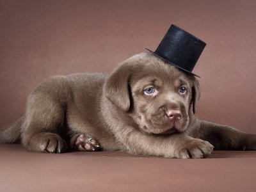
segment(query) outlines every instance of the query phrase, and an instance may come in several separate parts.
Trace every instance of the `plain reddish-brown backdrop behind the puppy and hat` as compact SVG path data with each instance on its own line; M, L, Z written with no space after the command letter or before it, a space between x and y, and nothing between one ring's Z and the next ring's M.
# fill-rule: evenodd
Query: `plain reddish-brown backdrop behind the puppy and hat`
M256 133L256 1L0 1L0 129L22 115L43 79L109 72L156 49L170 24L207 46L200 118Z

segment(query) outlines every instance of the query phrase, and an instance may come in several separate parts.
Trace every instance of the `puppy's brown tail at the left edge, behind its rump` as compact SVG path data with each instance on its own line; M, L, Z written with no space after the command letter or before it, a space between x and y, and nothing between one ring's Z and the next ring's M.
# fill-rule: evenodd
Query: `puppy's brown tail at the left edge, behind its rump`
M20 127L23 119L21 116L11 127L0 131L0 143L20 143Z

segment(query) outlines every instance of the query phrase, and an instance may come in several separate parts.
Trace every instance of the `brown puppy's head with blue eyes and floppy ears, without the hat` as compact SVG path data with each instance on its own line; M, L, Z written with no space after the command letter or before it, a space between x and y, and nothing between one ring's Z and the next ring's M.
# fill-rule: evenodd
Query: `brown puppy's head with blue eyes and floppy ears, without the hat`
M141 131L171 134L186 131L200 93L194 76L143 52L116 68L104 95Z

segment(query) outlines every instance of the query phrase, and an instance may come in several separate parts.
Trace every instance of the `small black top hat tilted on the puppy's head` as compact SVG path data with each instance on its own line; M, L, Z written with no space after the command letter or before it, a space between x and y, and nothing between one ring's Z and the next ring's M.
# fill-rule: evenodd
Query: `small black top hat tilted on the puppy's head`
M155 52L156 56L179 67L181 70L192 73L196 65L196 61L204 50L205 42L199 38L191 35L187 31L172 25L167 33L164 35L163 40L158 45ZM199 76L197 76L199 77Z

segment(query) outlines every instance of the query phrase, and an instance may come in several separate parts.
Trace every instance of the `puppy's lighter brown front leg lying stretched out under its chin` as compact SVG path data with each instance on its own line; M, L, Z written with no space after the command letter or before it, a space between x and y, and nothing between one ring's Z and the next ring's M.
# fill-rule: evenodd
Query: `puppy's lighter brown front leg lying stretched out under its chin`
M208 141L191 138L184 133L151 135L133 127L122 128L124 128L122 132L116 132L116 136L126 147L122 150L127 150L131 154L194 159L208 157L213 150L213 146Z

